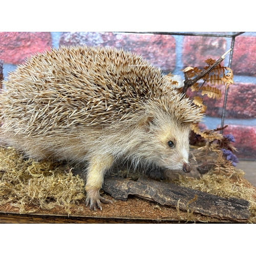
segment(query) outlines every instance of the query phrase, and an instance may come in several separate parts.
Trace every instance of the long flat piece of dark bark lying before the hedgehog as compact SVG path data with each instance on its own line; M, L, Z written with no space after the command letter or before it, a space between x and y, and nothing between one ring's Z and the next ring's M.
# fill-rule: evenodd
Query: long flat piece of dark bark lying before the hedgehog
M104 179L103 190L115 199L126 200L135 195L161 205L177 206L210 217L246 220L250 216L249 202L236 198L221 198L199 190L140 177L137 182L109 177Z

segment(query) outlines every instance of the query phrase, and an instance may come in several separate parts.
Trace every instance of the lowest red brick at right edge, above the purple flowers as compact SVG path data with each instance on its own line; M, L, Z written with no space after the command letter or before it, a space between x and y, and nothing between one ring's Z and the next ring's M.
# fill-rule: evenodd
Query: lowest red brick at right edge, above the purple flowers
M238 149L237 157L256 158L256 126L228 125L223 134L232 134L234 136L236 142L233 145Z

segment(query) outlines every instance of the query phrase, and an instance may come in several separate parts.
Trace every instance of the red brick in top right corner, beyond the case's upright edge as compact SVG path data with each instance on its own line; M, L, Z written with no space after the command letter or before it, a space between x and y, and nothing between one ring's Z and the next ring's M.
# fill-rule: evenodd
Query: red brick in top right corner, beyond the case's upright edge
M234 41L232 70L236 75L256 76L256 37L237 36Z

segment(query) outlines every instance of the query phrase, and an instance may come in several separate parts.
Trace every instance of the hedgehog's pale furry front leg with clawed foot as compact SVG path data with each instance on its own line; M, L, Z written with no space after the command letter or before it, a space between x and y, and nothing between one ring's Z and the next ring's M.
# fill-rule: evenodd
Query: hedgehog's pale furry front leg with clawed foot
M100 196L99 191L103 184L104 175L113 164L113 157L107 156L94 156L92 157L87 174L86 183L86 205L90 204L91 208L96 210L101 208L101 203L112 203L111 200L105 199Z

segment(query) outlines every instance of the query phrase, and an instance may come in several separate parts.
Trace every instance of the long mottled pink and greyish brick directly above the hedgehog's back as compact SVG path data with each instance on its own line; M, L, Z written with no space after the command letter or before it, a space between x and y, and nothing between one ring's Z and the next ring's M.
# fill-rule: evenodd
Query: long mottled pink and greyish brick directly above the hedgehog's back
M133 51L164 72L175 69L175 38L171 35L131 34L111 32L66 32L60 45L110 46Z

